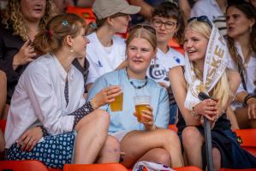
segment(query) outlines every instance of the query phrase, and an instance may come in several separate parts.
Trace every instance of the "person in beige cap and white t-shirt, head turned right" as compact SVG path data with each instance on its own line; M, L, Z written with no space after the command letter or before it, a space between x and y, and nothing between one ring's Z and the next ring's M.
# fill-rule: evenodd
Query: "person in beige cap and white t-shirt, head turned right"
M87 90L99 76L115 70L125 62L124 38L116 33L126 33L130 15L138 13L140 7L129 5L126 0L96 0L92 5L96 15L97 29L87 36L86 58L90 62ZM123 62L123 63L122 63Z

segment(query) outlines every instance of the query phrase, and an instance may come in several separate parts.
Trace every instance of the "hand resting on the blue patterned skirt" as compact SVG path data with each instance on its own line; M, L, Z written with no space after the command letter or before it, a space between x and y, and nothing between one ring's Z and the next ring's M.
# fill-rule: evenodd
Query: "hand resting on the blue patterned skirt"
M43 137L43 132L41 127L33 127L28 129L22 134L21 138L18 140L17 146L21 146L21 150L30 151Z

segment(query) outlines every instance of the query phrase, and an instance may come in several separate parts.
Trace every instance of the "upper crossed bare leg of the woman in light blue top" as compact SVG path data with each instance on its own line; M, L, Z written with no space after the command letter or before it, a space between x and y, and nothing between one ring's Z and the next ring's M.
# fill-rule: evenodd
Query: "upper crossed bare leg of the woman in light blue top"
M122 163L130 167L146 152L155 148L162 148L169 152L172 167L184 165L180 140L175 132L168 129L128 133L121 141L121 150L125 152Z

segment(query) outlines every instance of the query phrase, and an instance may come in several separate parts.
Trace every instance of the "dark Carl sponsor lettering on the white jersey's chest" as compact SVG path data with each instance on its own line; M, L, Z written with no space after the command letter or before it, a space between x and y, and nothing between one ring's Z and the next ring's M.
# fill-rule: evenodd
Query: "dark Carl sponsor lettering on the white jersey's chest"
M169 81L168 71L165 68L159 68L159 64L152 64L149 67L149 76L153 80Z

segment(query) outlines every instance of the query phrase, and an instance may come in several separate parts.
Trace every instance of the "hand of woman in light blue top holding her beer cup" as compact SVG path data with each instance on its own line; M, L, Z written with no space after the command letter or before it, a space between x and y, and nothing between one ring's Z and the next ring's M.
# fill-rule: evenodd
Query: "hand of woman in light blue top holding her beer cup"
M155 126L154 123L154 115L153 115L153 109L150 106L146 106L148 110L142 110L141 120L139 121L144 125L147 131L151 131ZM134 112L134 115L136 116L136 111ZM138 119L138 117L137 117Z

